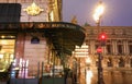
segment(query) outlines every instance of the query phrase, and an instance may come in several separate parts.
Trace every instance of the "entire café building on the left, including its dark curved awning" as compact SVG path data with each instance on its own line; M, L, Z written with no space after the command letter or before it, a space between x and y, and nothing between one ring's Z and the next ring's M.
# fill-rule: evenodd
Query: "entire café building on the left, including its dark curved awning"
M0 72L13 62L18 77L38 76L43 65L61 65L57 57L70 56L84 38L81 26L62 22L62 0L0 1Z

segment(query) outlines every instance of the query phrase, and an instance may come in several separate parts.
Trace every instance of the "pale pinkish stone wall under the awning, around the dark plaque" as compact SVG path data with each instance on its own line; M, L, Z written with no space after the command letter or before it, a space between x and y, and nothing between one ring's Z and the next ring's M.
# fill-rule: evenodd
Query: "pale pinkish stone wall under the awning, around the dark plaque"
M25 45L24 45L24 59L29 60L29 72L34 71L37 73L38 62L47 63L50 61L50 51L46 38L42 37L41 34L37 35L40 38L40 44L31 44L32 36L28 34L25 36ZM34 73L35 74L35 73Z

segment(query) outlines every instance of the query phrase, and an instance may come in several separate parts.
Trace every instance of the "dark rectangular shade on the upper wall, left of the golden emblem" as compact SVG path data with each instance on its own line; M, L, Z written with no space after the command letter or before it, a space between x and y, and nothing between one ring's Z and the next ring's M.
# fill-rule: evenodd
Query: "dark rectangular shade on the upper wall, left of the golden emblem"
M20 22L20 3L0 3L0 22Z

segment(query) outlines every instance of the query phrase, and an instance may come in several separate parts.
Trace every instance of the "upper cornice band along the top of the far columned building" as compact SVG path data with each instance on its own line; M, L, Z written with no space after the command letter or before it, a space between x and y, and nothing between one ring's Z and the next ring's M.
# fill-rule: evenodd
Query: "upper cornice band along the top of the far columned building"
M98 35L98 27L87 26L86 34L87 38L91 39ZM101 32L105 32L109 38L132 38L132 26L100 26ZM108 38L108 39L109 39Z

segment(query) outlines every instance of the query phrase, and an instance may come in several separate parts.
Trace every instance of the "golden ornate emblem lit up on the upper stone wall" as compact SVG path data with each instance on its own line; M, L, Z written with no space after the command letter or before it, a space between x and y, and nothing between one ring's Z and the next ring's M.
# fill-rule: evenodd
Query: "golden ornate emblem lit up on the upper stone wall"
M26 9L24 9L25 12L30 15L38 15L43 9L41 9L38 5L33 2L31 5L29 5Z

